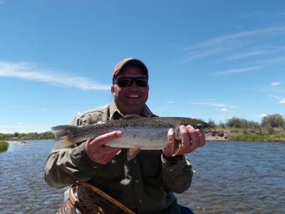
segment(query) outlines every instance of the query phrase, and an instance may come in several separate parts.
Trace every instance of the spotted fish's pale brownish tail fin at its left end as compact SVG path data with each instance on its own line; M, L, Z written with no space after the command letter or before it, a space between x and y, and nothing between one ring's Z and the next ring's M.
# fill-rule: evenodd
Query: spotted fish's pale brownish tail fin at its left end
M77 126L53 126L51 131L55 136L55 141L53 144L53 149L61 149L73 146L75 142L73 142L73 129L77 128Z

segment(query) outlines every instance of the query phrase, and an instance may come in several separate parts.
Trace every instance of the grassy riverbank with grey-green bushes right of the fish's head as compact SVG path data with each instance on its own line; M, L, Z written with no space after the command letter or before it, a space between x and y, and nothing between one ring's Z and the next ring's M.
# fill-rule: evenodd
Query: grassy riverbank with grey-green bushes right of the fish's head
M280 114L264 116L261 123L241 118L230 118L226 123L215 125L209 121L212 136L229 141L285 142L285 118Z

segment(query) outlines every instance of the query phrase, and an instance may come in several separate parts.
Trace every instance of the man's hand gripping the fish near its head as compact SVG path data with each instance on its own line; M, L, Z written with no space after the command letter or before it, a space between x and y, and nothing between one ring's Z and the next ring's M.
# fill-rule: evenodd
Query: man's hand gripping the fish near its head
M204 133L195 129L192 126L180 126L179 127L180 136L181 136L181 147L180 151L177 155L185 155L187 153L191 153L197 147L204 146L206 143ZM172 145L179 143L179 141L175 138L175 131L170 128L167 133L168 146L163 150L163 153L167 157L172 156Z

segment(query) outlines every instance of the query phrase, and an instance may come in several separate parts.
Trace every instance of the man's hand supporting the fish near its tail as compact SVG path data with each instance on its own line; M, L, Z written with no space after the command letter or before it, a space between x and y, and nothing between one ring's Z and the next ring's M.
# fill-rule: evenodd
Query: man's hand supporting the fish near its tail
M123 133L121 131L113 131L88 140L85 143L85 151L88 158L95 163L101 164L106 164L112 161L121 148L104 146L104 144L114 140L115 138L120 138L122 135Z

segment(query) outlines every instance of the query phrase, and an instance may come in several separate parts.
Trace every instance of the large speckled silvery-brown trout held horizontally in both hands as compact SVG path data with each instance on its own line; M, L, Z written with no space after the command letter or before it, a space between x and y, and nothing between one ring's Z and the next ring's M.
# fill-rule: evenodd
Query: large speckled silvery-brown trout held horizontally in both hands
M181 146L180 125L191 125L193 128L204 129L208 123L194 118L183 117L142 117L138 115L123 116L119 120L99 121L87 126L53 126L55 142L53 149L70 148L76 143L101 136L112 131L122 131L123 136L116 138L105 146L130 148L128 161L135 157L140 150L161 150L166 148L167 132L170 128L175 131L178 143L172 145L172 156L175 156Z

